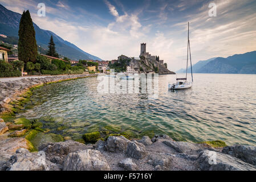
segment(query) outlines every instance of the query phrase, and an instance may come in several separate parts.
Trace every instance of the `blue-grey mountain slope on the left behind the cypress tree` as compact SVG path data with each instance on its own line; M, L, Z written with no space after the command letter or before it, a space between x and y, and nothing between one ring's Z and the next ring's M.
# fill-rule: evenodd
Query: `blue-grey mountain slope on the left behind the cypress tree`
M7 10L0 4L0 34L7 36L17 36L19 31L19 20L21 14ZM51 35L54 37L54 43L56 44L56 50L60 55L66 56L70 59L86 59L86 60L101 60L99 57L90 55L90 53L84 52L82 49L76 47L74 44L63 40L54 32L43 30L34 23L36 43L38 46L47 48Z

